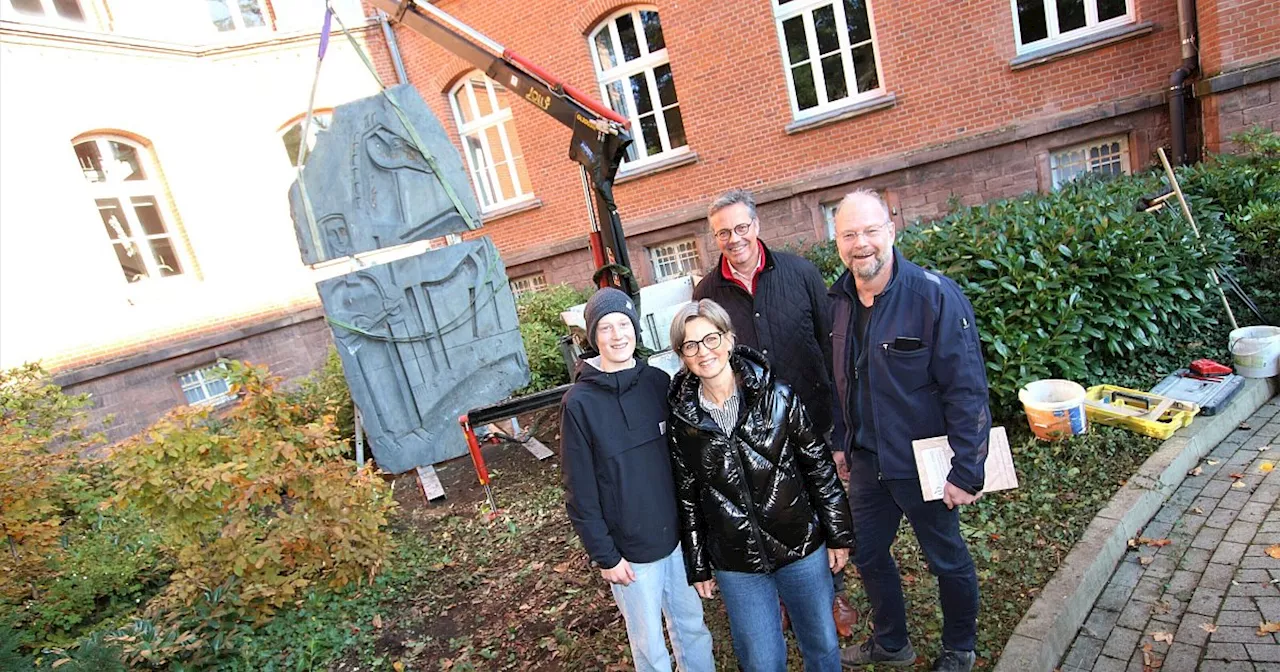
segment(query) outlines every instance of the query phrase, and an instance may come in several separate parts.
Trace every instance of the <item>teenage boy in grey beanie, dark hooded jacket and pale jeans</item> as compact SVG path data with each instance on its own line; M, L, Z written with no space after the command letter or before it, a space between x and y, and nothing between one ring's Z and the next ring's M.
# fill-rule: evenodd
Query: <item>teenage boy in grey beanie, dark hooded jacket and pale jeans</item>
M667 451L671 378L635 357L637 317L623 292L586 303L586 337L600 355L584 362L561 410L564 508L591 566L609 582L639 672L712 672L712 635L685 577L676 490Z

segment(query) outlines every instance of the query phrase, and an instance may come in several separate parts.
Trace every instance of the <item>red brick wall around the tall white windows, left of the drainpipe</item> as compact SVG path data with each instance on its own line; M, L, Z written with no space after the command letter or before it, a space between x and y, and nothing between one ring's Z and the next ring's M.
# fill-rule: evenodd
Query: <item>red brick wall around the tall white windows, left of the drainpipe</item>
M620 184L623 223L630 227L700 206L733 186L764 188L870 157L970 138L1028 118L1161 91L1179 61L1175 3L1135 3L1138 20L1155 22L1151 35L1011 70L1015 45L1009 4L873 0L881 77L897 96L896 105L788 136L783 128L792 116L769 4L660 1L657 8L689 146L699 160ZM595 92L585 35L626 3L443 0L438 5ZM445 91L468 68L416 33L397 28L397 38L411 82L452 127ZM379 55L389 73L385 50ZM566 157L568 129L520 101L513 111L532 191L543 205L485 227L504 255L586 230L576 166Z

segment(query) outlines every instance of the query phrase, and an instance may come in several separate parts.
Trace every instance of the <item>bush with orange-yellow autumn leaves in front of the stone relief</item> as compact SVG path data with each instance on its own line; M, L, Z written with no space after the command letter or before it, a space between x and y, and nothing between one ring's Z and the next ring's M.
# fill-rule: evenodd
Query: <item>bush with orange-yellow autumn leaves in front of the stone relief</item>
M394 502L371 468L339 458L333 416L308 421L314 412L264 369L228 369L242 401L224 417L179 408L113 454L113 502L136 506L174 556L152 612L233 586L244 616L262 620L310 585L362 581L383 566Z

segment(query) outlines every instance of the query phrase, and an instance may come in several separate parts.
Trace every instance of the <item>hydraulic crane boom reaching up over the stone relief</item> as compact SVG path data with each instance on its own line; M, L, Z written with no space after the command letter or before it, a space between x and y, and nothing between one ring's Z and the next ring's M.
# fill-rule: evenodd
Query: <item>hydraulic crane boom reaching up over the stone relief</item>
M613 202L613 178L631 145L627 120L430 4L415 0L371 0L371 4L389 14L393 22L452 51L572 129L568 155L580 166L588 200L595 283L626 292L636 312L643 315L640 284L631 271L622 220Z

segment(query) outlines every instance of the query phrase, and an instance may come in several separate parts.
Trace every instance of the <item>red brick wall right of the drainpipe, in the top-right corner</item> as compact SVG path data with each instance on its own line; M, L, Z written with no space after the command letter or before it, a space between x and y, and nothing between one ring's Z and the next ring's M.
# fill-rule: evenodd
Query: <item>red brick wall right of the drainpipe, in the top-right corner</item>
M1280 3L1199 0L1196 5L1206 76L1280 56Z

